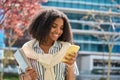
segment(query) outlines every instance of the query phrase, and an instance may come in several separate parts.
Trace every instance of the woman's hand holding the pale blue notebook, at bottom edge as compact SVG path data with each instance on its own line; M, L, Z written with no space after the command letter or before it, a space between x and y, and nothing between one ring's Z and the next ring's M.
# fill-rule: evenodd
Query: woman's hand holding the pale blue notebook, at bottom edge
M23 80L36 80L37 79L37 72L34 68L27 67L25 74L22 75Z

